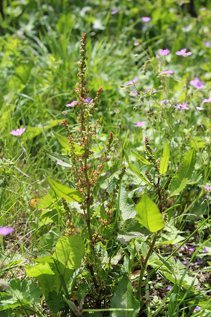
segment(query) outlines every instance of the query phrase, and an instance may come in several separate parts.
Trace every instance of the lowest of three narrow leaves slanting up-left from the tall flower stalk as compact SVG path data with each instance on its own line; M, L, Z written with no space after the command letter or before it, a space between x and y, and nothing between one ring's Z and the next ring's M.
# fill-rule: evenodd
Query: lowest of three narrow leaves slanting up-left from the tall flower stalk
M48 182L50 183L50 186L53 188L53 190L56 192L56 195L58 198L64 198L68 202L78 202L81 203L84 201L83 196L81 193L73 188L66 187L52 178L48 176Z

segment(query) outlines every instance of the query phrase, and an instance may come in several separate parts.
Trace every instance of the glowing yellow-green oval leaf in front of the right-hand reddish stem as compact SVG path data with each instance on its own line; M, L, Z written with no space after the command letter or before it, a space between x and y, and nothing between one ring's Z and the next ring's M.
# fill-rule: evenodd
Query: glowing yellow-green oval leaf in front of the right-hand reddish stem
M164 228L164 221L156 204L147 196L143 195L140 202L135 206L136 219L149 231L156 232Z

